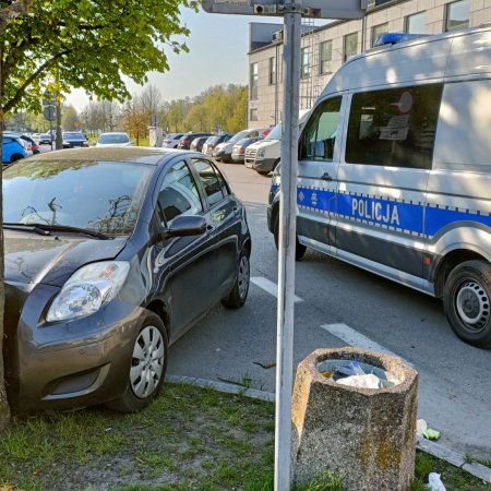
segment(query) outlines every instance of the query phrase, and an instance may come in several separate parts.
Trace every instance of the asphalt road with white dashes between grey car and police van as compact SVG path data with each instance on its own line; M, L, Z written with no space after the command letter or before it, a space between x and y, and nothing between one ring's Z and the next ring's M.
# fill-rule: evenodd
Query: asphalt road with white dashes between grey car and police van
M266 225L271 179L241 165L219 166L247 204L255 283L242 309L217 306L172 345L168 373L274 392L276 298L268 290L274 294L277 282L277 254ZM312 250L297 263L296 279L301 301L295 366L316 348L390 350L418 370L419 418L441 431L439 443L491 458L491 351L460 342L440 301Z

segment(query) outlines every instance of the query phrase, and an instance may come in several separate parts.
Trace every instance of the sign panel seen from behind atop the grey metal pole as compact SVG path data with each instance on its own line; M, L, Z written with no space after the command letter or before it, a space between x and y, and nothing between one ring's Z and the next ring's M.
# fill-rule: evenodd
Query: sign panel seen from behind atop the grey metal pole
M285 2L280 0L202 0L203 10L209 13L239 15L285 15ZM361 19L368 0L303 0L295 3L289 12L316 19Z

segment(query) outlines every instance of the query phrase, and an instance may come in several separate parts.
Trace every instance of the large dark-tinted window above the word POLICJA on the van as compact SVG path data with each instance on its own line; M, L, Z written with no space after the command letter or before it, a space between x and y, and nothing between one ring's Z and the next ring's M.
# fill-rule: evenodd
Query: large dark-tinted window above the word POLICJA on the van
M346 161L430 169L442 84L355 94Z

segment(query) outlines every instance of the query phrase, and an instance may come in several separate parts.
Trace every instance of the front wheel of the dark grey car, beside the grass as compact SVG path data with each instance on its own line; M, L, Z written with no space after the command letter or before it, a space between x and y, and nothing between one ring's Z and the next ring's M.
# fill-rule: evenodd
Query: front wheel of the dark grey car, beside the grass
M167 370L167 352L164 323L158 315L148 312L133 342L124 393L106 405L120 412L136 412L146 407L160 393Z

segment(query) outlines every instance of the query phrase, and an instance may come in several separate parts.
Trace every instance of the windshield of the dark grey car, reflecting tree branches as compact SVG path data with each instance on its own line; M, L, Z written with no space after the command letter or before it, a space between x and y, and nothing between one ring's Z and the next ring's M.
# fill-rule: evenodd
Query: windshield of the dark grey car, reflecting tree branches
M19 163L3 171L3 221L129 235L153 171L112 161Z

